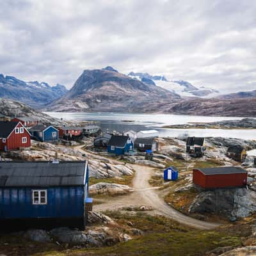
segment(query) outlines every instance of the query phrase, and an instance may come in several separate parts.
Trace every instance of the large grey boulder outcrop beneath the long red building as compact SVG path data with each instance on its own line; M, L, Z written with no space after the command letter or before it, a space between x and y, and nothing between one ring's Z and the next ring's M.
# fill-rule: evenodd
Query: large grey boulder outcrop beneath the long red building
M256 193L246 188L203 191L189 207L189 213L214 213L232 221L256 211Z

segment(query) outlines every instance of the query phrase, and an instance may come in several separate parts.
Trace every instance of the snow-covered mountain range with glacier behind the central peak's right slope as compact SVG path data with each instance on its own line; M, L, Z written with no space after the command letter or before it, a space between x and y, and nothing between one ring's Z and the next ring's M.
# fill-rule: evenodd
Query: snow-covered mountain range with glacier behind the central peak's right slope
M130 72L128 76L138 79L145 84L154 84L165 90L179 94L181 97L204 97L211 98L220 95L217 90L201 86L196 88L187 81L169 81L164 76L151 76L148 73Z

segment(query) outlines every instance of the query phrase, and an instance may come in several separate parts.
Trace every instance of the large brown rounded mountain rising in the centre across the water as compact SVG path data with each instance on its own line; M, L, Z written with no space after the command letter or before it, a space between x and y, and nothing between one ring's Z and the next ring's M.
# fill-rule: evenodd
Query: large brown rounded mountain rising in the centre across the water
M157 111L180 100L176 93L120 74L111 67L84 70L72 89L50 104L51 111Z

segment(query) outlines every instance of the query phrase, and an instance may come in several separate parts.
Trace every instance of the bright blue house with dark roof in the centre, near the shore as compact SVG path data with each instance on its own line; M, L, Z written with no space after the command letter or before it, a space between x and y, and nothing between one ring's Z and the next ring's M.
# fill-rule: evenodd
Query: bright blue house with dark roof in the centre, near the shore
M116 155L133 152L133 142L129 136L113 135L108 142L108 152Z

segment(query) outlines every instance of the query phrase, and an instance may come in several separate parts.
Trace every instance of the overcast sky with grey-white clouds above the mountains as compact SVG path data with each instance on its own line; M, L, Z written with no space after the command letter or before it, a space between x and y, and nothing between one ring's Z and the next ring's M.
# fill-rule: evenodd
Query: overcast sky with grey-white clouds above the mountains
M84 69L256 89L255 0L8 0L0 73L70 88Z

